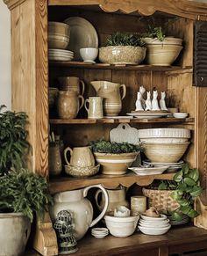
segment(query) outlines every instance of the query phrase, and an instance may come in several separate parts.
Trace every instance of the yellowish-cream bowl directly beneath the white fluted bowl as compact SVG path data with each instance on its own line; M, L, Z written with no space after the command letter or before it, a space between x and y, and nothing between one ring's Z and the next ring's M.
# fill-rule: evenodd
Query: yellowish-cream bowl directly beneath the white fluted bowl
M189 143L145 143L143 148L151 162L176 163L188 146Z

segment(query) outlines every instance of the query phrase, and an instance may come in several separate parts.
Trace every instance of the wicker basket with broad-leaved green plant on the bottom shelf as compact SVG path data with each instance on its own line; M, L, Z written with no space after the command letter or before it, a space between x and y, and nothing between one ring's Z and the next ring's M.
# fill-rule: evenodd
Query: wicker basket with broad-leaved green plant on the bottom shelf
M198 169L190 169L186 164L175 174L173 180L162 180L157 189L143 188L143 193L149 197L151 206L170 214L176 221L181 221L183 215L190 218L198 216L194 200L202 190Z

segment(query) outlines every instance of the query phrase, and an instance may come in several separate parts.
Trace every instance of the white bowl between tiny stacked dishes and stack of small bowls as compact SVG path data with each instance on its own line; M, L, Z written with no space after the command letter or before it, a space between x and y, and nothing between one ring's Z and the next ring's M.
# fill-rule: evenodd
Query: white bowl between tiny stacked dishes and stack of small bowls
M116 217L104 216L106 227L114 237L125 238L136 230L139 216Z

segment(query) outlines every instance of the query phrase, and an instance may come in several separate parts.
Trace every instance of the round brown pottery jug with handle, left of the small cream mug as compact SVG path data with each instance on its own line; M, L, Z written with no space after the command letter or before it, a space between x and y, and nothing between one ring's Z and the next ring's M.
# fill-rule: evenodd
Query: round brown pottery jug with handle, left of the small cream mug
M80 104L81 99L81 104ZM84 99L77 91L59 91L57 102L58 115L61 119L72 119L82 108Z

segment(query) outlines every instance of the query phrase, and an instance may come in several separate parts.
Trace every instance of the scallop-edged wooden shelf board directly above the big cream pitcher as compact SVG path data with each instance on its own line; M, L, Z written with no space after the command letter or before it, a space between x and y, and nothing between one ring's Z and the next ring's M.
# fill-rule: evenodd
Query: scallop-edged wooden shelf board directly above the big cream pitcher
M175 173L164 173L139 176L133 172L129 172L125 175L99 174L89 178L60 177L50 180L49 190L51 194L55 194L58 192L88 187L95 184L102 184L103 187L108 189L116 188L118 185L131 187L135 183L139 186L147 186L153 182L153 179L173 179L174 175Z

